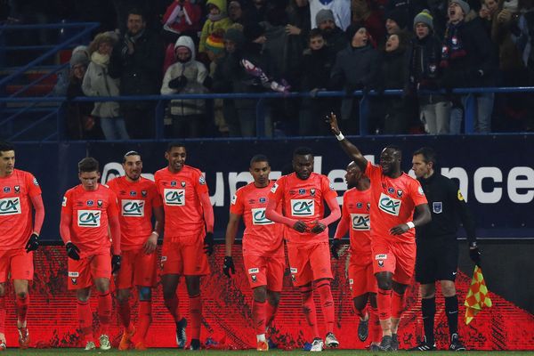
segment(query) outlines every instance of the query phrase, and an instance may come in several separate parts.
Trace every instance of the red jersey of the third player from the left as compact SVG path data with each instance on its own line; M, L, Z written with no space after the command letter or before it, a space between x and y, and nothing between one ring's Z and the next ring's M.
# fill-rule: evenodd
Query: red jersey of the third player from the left
M117 195L120 209L120 249L131 251L142 247L152 233L152 207L161 206L156 183L143 177L137 182L117 177L108 186Z

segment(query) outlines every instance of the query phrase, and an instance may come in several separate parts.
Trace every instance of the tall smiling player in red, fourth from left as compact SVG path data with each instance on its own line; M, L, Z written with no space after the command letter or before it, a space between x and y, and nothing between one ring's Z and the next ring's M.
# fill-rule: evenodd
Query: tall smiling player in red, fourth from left
M169 143L165 158L168 165L154 175L165 211L165 238L161 252L163 297L176 323L176 343L179 348L184 348L187 321L178 312L176 287L180 276L185 276L190 298L190 349L199 350L200 276L209 274L206 255L214 252L214 209L204 175L197 168L185 165L185 146Z

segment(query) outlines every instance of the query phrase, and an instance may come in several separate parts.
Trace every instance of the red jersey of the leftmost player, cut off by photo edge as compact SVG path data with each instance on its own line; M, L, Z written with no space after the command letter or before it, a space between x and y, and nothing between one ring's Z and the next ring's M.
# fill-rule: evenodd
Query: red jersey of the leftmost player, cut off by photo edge
M0 178L0 250L24 248L33 232L31 198L41 195L33 174L19 169Z

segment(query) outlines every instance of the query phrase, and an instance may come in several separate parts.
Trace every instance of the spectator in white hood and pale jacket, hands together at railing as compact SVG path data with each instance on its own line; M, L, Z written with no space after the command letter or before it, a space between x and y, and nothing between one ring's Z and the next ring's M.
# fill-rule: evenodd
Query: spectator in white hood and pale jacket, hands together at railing
M206 93L204 80L207 70L195 61L195 44L190 36L180 36L174 44L176 63L170 66L163 78L163 95L178 93ZM170 137L200 137L205 117L206 101L202 99L174 99L170 103L173 120Z

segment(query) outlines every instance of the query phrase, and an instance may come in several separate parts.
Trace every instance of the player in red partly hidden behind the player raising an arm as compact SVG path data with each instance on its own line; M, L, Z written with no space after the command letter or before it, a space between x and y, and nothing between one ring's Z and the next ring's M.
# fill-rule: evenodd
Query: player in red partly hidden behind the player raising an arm
M345 174L348 190L343 196L341 220L337 224L336 234L332 241L332 255L339 258L341 239L349 231L351 239L349 262L349 285L351 287L354 311L360 317L358 337L361 341L368 338L368 325L371 325L371 351L379 351L382 330L376 310L376 278L373 273L371 253L371 222L369 209L371 206L370 182L367 176L354 162L347 166ZM366 311L370 303L370 312Z

